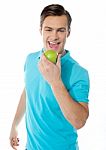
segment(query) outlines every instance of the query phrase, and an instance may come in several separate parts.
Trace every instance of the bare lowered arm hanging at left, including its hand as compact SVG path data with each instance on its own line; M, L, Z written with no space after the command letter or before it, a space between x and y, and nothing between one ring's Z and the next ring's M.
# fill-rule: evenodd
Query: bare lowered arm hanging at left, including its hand
M17 127L19 123L21 122L22 117L24 116L25 113L25 108L26 108L26 95L25 95L25 89L23 90L20 101L17 107L17 111L12 123L11 127L11 132L10 132L10 144L13 149L16 150L15 146L18 146L19 139L17 138L18 132L17 132Z

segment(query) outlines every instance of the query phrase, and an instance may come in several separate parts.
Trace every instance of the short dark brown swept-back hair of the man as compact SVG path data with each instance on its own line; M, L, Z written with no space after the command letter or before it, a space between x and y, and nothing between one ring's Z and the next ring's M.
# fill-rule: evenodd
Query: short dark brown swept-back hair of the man
M70 30L72 18L70 13L65 10L65 8L62 5L59 4L51 4L46 6L40 15L40 27L42 29L43 22L46 17L48 16L62 16L65 15L67 17L67 22L68 22L68 30Z

